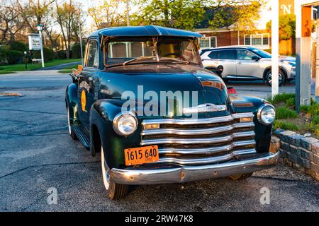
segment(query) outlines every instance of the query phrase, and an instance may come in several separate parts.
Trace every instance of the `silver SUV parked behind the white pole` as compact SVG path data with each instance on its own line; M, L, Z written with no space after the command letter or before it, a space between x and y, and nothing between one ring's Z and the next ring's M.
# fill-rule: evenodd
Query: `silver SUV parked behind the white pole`
M264 80L272 85L272 54L251 46L230 46L204 49L203 66L218 73L224 80ZM279 85L296 77L296 59L280 57Z

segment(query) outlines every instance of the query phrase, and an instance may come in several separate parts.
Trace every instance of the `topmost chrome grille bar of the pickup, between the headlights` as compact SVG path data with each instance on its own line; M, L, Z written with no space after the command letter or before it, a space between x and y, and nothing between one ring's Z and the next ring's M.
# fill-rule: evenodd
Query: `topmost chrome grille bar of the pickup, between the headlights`
M233 121L233 119L240 119L246 117L254 117L252 112L230 114L224 117L214 117L205 119L145 119L142 125L150 124L177 124L177 125L194 125L194 124L213 124L225 121Z

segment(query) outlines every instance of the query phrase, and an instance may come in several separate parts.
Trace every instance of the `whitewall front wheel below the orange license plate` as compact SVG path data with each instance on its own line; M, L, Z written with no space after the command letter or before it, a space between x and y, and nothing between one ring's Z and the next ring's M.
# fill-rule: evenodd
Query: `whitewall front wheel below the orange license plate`
M124 198L128 194L128 185L116 184L110 180L111 169L106 164L102 146L101 146L101 165L102 165L103 184L106 191L108 192L108 198L110 198L111 200Z

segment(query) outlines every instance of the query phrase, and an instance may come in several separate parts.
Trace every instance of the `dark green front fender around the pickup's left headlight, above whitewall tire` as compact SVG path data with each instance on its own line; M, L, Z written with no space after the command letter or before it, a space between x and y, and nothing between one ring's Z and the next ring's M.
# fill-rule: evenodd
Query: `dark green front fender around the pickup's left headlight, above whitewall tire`
M140 121L138 129L130 136L119 136L113 130L113 119L121 112L122 103L122 100L97 100L90 111L91 129L96 126L99 131L104 156L110 168L124 167L124 149L135 148L140 145ZM91 137L91 139L94 139L94 137Z

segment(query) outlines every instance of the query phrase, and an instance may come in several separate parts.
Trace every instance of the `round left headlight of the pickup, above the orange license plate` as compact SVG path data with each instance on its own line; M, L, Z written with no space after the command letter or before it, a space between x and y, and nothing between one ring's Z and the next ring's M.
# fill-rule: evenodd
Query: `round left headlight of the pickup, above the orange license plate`
M138 119L132 112L120 112L113 119L113 129L121 136L128 136L138 129Z

